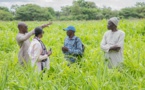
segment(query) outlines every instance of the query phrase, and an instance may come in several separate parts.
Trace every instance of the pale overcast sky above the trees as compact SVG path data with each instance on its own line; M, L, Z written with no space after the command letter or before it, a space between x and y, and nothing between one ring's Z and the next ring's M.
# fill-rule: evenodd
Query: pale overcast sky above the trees
M124 7L134 6L136 2L145 2L145 0L86 0L93 1L97 6L111 7L112 9L119 10ZM73 0L0 0L0 6L6 6L8 8L11 5L23 5L23 4L37 4L42 7L53 7L55 10L60 10L62 6L72 5Z

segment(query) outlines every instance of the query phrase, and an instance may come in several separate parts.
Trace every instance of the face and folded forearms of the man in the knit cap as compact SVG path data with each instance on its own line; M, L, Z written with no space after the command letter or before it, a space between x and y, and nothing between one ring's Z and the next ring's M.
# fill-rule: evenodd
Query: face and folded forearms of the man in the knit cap
M108 21L107 28L108 28L108 30L112 30L112 32L117 31L117 26L111 21ZM119 46L115 45L115 46L111 47L109 51L119 51L120 49L121 48Z

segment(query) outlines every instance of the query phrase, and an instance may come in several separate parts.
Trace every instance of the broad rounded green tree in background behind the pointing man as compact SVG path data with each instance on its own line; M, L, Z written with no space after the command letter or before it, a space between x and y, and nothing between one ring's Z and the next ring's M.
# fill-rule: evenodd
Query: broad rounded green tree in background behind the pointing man
M52 19L52 15L48 12L48 9L42 8L38 5L27 4L22 5L16 11L16 19L23 21L47 21Z

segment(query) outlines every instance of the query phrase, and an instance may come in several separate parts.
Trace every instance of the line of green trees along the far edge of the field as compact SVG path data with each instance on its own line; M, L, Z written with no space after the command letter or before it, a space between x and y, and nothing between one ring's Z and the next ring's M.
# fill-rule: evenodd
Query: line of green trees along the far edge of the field
M145 18L145 3L137 2L133 7L121 10L112 10L106 6L100 8L94 2L85 0L73 1L72 6L61 7L61 11L35 4L12 5L10 9L0 7L0 20L3 21L101 20L113 16L124 19Z

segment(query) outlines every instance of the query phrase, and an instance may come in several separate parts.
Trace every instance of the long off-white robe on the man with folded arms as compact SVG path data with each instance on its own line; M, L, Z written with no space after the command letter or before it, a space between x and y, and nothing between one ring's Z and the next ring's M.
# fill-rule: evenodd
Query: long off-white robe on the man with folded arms
M112 66L117 66L120 62L123 62L123 44L125 33L121 30L112 32L108 30L102 39L101 49L105 52L105 59L110 60ZM109 51L112 46L119 46L119 51Z

